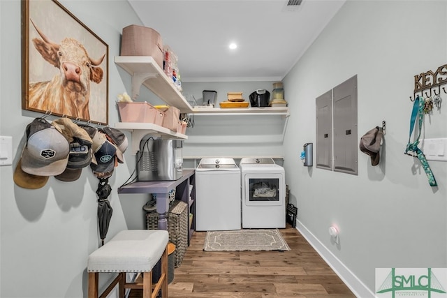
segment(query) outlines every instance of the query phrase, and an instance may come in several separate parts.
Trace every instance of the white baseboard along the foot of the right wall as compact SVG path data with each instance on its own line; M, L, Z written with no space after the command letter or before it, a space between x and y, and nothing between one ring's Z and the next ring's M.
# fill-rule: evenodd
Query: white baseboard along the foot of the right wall
M342 279L346 286L353 292L358 298L374 298L374 293L367 288L367 286L355 276L348 267L346 267L318 238L312 234L305 225L302 225L300 221L296 221L296 229L305 237L307 242L321 255L321 258L335 271L335 274Z

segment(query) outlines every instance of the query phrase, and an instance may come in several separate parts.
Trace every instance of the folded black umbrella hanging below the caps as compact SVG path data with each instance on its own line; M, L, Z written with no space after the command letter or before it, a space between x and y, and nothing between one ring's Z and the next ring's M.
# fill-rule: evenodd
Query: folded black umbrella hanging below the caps
M113 211L108 200L108 196L112 191L108 182L108 178L99 179L98 189L96 190L96 194L98 195L98 226L102 245L104 245L104 239L109 230L110 218L112 218Z

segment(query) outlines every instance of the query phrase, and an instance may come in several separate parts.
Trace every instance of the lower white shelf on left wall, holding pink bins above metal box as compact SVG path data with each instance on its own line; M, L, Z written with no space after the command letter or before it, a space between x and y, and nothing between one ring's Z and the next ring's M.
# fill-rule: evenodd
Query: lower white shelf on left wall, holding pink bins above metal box
M137 154L140 149L140 141L145 135L154 135L161 137L162 139L188 139L187 135L182 133L176 133L168 128L153 124L153 123L131 123L131 122L117 122L115 123L115 128L124 129L130 131L132 134L132 155Z

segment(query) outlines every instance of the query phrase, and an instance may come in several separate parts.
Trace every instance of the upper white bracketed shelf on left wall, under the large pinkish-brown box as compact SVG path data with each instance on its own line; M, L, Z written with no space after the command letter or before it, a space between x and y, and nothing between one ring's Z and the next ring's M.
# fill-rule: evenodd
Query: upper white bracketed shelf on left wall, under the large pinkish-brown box
M135 100L140 94L140 87L144 85L154 92L168 105L177 107L182 113L192 112L188 101L175 87L171 80L150 56L115 56L118 64L132 76L132 98Z

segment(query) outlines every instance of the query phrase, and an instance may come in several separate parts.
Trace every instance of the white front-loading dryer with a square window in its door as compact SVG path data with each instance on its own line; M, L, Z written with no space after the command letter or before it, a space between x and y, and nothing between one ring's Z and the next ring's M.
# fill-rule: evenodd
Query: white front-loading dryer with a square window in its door
M284 167L273 158L242 158L242 228L286 228Z

